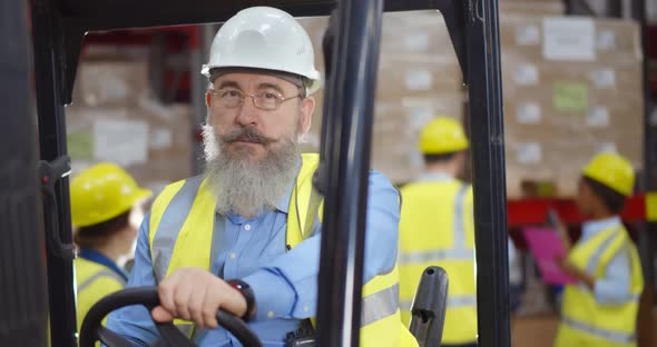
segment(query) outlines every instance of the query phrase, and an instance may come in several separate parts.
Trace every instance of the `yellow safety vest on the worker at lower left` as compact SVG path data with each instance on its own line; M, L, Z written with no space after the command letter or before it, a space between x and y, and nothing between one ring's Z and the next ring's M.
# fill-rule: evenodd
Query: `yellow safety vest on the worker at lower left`
M76 267L78 331L80 331L82 320L91 306L101 298L124 289L126 280L115 270L98 262L76 258L73 264Z

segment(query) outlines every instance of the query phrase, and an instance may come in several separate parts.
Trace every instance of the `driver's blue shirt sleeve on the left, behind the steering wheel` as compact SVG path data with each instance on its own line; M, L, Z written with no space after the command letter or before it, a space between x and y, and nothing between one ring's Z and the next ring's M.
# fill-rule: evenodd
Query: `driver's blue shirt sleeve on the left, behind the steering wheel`
M156 286L148 246L149 217L149 214L144 217L139 228L135 266L127 287ZM150 313L144 306L128 306L111 313L107 319L107 327L137 346L150 346L159 338L159 333L150 319Z

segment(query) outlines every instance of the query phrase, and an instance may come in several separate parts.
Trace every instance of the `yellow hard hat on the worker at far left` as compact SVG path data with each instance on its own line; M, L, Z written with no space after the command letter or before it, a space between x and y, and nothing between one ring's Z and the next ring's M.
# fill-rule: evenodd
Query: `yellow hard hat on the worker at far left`
M110 162L97 163L71 180L71 219L88 227L126 212L151 195L140 188L124 169Z

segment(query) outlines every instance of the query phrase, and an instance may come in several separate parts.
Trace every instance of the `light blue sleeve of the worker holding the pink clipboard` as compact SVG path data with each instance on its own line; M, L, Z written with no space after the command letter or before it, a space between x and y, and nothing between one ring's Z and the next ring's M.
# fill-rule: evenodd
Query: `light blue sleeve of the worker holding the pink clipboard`
M630 300L630 274L629 251L624 247L607 265L605 277L596 280L596 301L600 305L619 305Z

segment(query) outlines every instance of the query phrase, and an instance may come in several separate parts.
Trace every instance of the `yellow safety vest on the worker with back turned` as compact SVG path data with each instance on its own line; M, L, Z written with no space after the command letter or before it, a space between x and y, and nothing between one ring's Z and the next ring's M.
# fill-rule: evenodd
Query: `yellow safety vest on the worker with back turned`
M401 189L400 306L410 324L411 304L429 266L449 277L443 344L477 341L477 285L472 188L455 179L425 180Z

